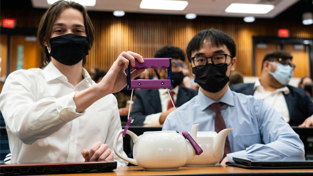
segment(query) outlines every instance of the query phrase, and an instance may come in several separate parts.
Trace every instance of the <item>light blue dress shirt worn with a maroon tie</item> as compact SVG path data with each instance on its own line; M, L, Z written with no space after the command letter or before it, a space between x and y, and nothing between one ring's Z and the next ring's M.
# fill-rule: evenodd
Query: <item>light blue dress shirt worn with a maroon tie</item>
M304 146L283 117L262 99L233 92L229 89L219 101L214 101L199 90L177 109L186 131L199 123L198 131L214 131L215 112L209 107L214 102L223 102L221 113L226 128L233 128L228 139L233 157L268 159L272 157L304 157ZM182 131L175 112L171 112L162 130Z

